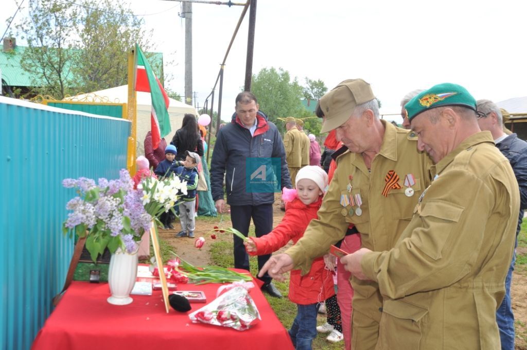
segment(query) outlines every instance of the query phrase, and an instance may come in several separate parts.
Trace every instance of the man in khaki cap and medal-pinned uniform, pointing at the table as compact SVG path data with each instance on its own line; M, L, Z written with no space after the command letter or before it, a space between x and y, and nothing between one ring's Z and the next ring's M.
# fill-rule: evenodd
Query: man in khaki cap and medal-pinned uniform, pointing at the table
M417 137L379 119L378 102L364 80L341 82L323 96L320 106L326 118L322 132L336 129L348 150L337 157L319 220L311 221L295 246L264 266L275 278L292 268L307 273L311 261L343 238L350 223L360 232L363 247L392 248L431 182L431 160L417 150ZM374 349L382 296L374 281L352 278L352 286L352 348Z

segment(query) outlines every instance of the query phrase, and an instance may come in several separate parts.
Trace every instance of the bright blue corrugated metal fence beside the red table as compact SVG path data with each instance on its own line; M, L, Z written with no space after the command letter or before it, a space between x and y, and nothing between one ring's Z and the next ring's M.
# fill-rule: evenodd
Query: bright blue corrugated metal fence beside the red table
M0 348L31 347L73 252L64 178L117 178L130 123L0 96Z

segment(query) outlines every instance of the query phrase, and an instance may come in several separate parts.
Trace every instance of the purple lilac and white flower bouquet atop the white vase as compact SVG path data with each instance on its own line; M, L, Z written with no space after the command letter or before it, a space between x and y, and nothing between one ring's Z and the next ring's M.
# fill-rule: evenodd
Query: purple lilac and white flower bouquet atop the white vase
M186 182L177 177L164 180L145 178L134 189L130 173L119 172L119 179L64 179L66 188L76 188L77 196L67 202L73 210L63 223L66 234L75 231L86 237L86 249L95 261L108 247L111 253L121 248L129 253L138 248L144 231L162 212L172 210L181 193L187 191Z

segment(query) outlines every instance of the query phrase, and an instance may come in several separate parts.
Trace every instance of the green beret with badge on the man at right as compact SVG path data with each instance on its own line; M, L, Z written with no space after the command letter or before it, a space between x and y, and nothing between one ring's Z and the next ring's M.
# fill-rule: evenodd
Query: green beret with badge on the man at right
M408 120L419 113L443 106L463 106L476 111L476 100L461 85L443 83L432 86L404 105Z

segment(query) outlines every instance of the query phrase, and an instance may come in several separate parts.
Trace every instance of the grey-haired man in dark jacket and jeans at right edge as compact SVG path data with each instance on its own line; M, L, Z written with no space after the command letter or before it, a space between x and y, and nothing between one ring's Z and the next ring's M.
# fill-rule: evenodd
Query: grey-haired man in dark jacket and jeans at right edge
M477 123L481 130L492 133L496 147L509 159L518 187L520 188L520 214L516 228L516 246L518 234L523 220L523 212L527 208L527 142L520 140L516 134L507 135L503 132L503 116L498 106L489 100L477 101L477 111L481 112ZM505 297L496 311L496 322L500 328L501 348L514 350L514 315L511 307L511 280L516 254L512 256L509 273L505 279Z

